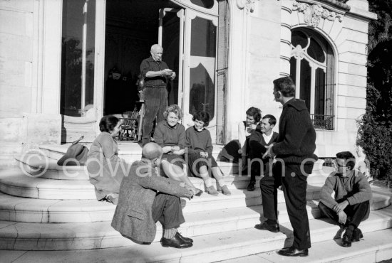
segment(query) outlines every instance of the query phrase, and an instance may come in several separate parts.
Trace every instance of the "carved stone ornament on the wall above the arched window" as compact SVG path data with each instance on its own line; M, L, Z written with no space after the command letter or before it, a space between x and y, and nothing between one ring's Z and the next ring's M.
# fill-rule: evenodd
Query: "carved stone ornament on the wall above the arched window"
M329 11L320 4L299 3L293 0L292 10L304 13L304 21L308 24L308 26L319 26L321 19L334 21L335 18L338 18L339 22L343 21L343 16L341 14Z

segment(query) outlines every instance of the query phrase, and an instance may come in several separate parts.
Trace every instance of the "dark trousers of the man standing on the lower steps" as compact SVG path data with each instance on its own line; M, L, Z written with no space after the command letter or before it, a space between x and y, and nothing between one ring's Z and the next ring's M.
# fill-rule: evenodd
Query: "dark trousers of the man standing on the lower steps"
M310 174L313 164L306 164L304 172ZM260 181L264 218L277 220L277 188L283 186L287 213L294 230L293 247L308 249L311 247L309 219L306 211L306 179L300 165L282 163L277 159L272 168L273 176L264 176Z

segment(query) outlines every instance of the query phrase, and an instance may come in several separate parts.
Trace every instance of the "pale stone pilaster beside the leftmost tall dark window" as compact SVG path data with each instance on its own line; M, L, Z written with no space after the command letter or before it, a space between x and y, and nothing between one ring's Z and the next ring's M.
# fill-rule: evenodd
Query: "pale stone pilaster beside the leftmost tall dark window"
M60 144L61 0L33 1L33 70L31 112L23 113L24 150ZM27 77L27 76L26 76Z

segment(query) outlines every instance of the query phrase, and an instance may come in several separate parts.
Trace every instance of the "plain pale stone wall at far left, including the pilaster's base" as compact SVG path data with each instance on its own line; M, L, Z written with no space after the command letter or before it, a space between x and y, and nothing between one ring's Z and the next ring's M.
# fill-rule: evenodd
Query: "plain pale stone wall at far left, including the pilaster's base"
M56 101L43 106L45 94L38 88L43 85L40 9L43 1L0 1L0 165L12 164L14 154L38 144L60 142Z

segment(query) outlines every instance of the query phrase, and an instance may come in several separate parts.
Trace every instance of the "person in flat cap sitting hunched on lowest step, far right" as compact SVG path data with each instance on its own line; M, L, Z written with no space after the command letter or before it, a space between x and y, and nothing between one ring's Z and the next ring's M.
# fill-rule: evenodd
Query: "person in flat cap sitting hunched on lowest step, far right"
M371 188L365 176L354 169L355 157L349 151L336 154L336 171L326 178L321 188L319 209L321 214L336 222L341 230L343 247L359 241L363 235L359 223L370 213ZM331 194L335 193L334 198Z

